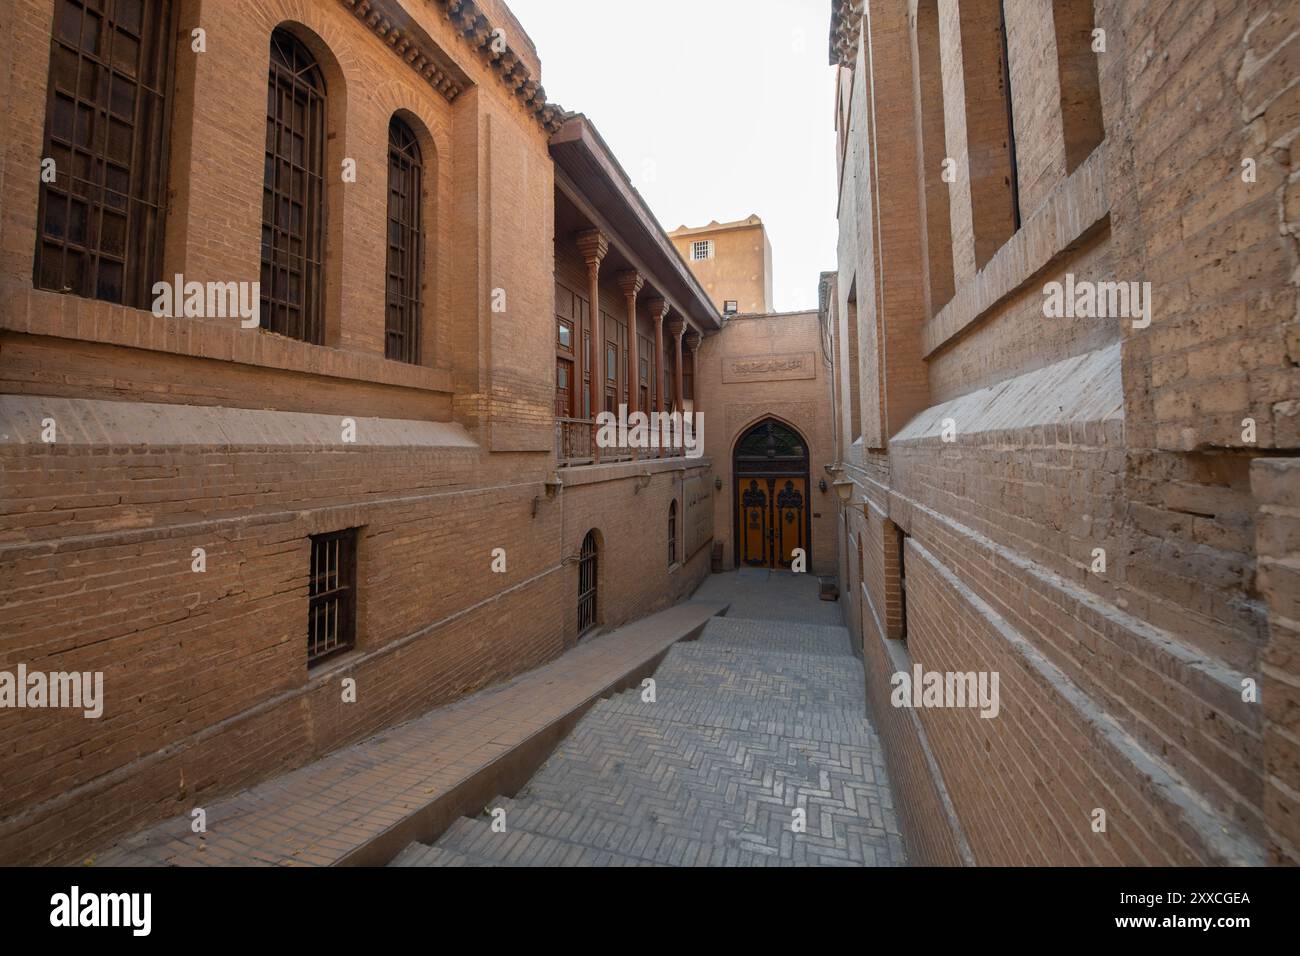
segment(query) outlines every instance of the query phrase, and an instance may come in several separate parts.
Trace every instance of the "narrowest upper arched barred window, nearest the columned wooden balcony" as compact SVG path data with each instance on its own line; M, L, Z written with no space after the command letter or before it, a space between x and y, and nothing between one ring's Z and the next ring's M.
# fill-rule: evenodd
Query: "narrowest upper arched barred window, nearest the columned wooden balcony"
M394 116L389 121L389 264L384 354L415 364L420 363L422 174L415 133Z

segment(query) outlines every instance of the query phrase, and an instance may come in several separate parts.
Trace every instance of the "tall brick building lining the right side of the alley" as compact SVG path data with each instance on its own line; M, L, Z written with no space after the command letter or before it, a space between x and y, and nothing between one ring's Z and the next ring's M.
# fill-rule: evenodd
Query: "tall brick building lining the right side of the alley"
M840 578L913 857L1296 862L1294 5L832 8ZM1001 713L890 706L914 666Z

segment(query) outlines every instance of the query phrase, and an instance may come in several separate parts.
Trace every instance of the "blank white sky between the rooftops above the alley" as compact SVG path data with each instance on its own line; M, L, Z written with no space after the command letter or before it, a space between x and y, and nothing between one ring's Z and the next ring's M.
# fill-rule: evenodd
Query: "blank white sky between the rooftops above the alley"
M816 307L836 255L827 0L507 3L547 99L586 113L664 229L758 213L772 307Z

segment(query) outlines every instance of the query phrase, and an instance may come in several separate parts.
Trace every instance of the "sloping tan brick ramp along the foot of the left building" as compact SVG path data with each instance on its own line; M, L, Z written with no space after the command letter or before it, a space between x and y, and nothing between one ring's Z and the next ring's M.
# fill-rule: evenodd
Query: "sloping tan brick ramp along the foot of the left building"
M668 646L723 610L725 602L697 598L582 641L500 687L205 804L207 834L194 834L185 814L117 842L94 862L332 865L374 853L384 862L432 818L460 812L456 803L472 800L474 787L508 778L511 762L526 761L538 747L545 754L576 711L627 687L629 675L649 671Z

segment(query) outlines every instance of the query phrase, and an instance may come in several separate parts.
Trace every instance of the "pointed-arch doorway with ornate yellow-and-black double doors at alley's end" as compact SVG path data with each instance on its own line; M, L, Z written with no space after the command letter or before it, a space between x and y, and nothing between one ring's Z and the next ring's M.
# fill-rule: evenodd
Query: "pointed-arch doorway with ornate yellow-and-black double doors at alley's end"
M809 450L797 431L763 419L732 453L736 567L789 570L811 554Z

